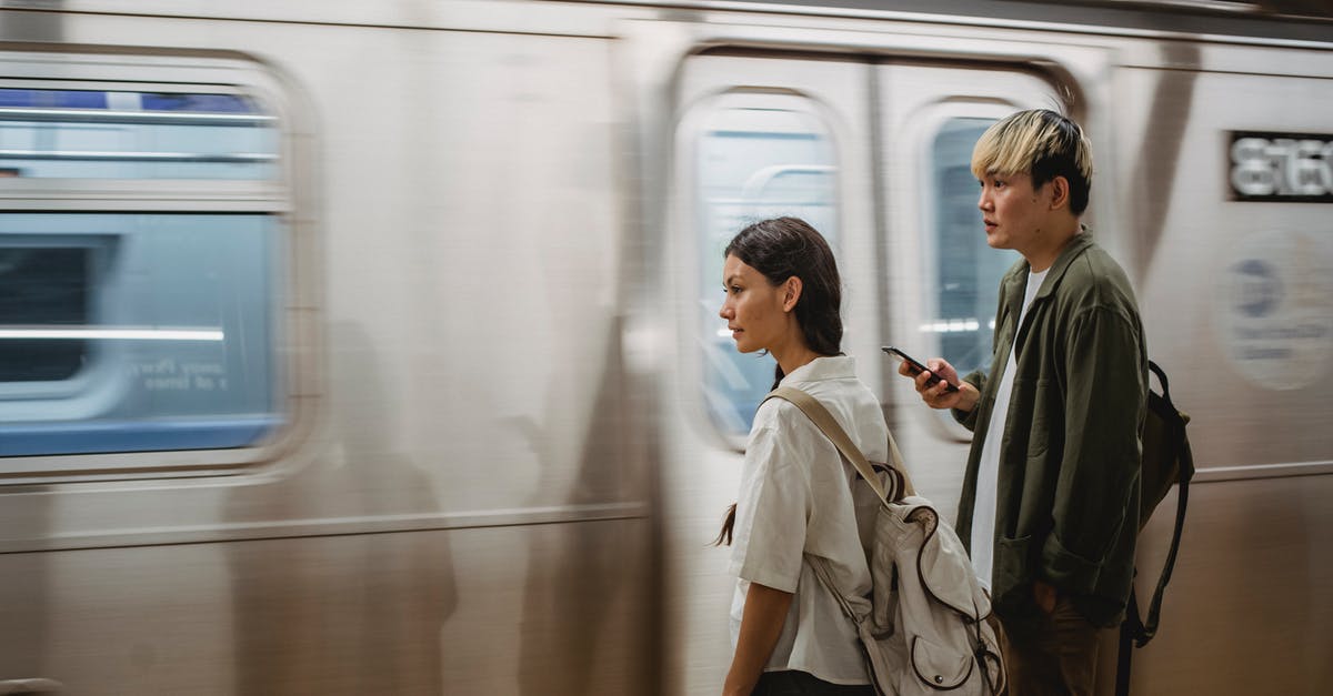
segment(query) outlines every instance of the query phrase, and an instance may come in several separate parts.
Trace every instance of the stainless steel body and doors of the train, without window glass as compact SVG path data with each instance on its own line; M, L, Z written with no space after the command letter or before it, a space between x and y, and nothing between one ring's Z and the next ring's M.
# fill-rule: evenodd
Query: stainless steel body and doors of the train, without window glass
M0 36L61 65L45 79L239 80L280 115L292 415L237 460L96 457L120 476L7 461L64 473L0 488L0 679L716 692L733 579L706 543L740 453L697 388L688 137L690 109L733 91L806 97L834 124L848 351L950 511L966 444L876 355L929 319L921 124L1046 100L1080 117L1090 221L1134 279L1201 467L1134 691L1333 679L1330 339L1286 363L1244 351L1253 331L1329 320L1333 229L1326 204L1230 200L1224 143L1326 132L1326 44L524 1L69 0L4 5ZM702 55L716 47L730 52ZM60 209L87 203L76 188L43 203L0 187L0 201ZM1248 259L1305 304L1257 329L1237 319Z

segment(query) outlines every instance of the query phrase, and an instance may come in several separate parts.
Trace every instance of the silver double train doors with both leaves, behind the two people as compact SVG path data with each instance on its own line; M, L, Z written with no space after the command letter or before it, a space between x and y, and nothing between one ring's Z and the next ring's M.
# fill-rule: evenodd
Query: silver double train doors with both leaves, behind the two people
M665 264L680 308L663 431L666 693L716 692L730 655L730 553L706 544L736 499L745 436L773 380L773 360L737 353L717 316L722 249L748 221L793 215L825 235L844 284L842 349L885 404L906 404L892 425L918 488L952 516L966 433L921 407L880 347L965 369L988 355L996 285L1013 259L985 247L972 144L1012 111L1058 101L1033 75L982 68L713 51L678 72Z

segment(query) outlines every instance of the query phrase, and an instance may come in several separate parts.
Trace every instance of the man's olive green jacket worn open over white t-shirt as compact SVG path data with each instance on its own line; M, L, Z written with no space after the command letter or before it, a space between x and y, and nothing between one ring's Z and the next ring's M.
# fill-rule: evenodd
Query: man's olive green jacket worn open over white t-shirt
M1000 281L989 373L965 377L981 400L953 412L976 433L957 532L970 541L981 448L990 415L1008 407L996 491L996 612L1010 621L1036 617L1032 584L1042 580L1089 621L1109 627L1122 619L1133 580L1144 331L1129 279L1086 231L1060 253L1017 325L1028 272L1020 261ZM1012 399L996 404L1010 345Z

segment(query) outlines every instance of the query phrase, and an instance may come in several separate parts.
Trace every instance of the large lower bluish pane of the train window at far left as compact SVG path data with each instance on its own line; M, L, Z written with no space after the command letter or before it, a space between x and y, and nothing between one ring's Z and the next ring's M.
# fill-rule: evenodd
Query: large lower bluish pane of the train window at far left
M271 215L0 213L0 455L272 432L281 245Z

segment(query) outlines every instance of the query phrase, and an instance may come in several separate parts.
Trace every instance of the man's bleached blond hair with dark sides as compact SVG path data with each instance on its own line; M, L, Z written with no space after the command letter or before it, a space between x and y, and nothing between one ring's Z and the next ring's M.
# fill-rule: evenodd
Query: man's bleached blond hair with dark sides
M1082 215L1092 188L1092 143L1078 124L1050 109L1020 111L981 135L972 149L972 173L1025 173L1033 188L1064 176L1069 209Z

